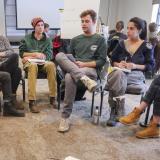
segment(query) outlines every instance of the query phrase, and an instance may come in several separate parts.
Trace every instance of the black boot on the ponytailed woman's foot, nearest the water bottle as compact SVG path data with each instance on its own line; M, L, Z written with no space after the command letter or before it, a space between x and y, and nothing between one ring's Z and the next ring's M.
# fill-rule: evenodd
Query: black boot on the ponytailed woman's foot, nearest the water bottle
M107 121L107 126L114 127L116 125L116 107L111 107L110 118Z

